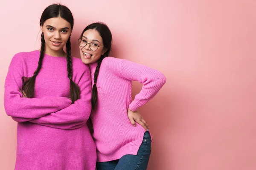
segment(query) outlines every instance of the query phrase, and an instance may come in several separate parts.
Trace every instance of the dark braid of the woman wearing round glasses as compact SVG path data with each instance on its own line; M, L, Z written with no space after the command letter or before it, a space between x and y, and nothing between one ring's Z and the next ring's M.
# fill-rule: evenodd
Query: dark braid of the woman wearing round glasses
M99 68L100 68L100 65L102 63L102 60L107 57L108 55L104 54L100 57L99 59L99 62L98 62L98 65L96 67L96 70L95 70L95 73L94 73L94 78L93 78L93 89L92 89L92 108L94 109L97 105L97 101L98 101L98 90L97 90L97 86L96 86L96 83L97 83L97 78L98 78L98 75L99 75Z

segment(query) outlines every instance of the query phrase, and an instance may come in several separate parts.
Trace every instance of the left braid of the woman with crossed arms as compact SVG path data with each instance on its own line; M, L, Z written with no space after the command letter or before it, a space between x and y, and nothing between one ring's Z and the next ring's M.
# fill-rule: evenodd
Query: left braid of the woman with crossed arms
M29 78L22 77L22 82L23 82L22 90L26 94L27 98L34 97L35 78L42 68L42 62L43 62L43 58L44 58L44 48L45 48L45 40L44 40L44 32L43 32L41 34L41 51L40 51L40 57L39 57L39 61L38 61L38 67L32 77L29 77Z

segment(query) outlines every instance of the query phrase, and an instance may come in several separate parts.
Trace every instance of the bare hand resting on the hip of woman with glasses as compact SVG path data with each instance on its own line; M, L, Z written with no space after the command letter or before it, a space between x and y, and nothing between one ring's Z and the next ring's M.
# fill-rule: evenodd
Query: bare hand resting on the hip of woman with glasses
M147 122L143 119L143 117L141 116L141 114L139 112L137 112L137 111L134 112L134 111L131 111L130 109L128 109L127 114L128 114L128 118L131 121L131 124L134 127L136 127L136 123L135 122L137 122L142 127L144 127L145 130L148 131L149 126L148 126Z

